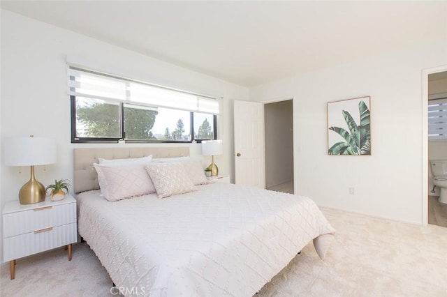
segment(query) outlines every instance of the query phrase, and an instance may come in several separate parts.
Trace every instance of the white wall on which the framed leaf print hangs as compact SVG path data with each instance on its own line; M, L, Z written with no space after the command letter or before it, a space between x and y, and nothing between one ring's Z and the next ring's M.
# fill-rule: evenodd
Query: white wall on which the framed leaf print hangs
M442 65L447 39L251 89L260 102L294 98L295 193L423 224L422 70ZM371 96L372 155L328 155L326 103L362 96Z

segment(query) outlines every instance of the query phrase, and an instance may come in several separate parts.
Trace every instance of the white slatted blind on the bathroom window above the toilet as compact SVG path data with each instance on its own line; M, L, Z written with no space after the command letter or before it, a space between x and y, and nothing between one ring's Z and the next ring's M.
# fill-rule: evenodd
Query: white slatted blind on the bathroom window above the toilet
M447 98L428 101L428 139L447 140Z

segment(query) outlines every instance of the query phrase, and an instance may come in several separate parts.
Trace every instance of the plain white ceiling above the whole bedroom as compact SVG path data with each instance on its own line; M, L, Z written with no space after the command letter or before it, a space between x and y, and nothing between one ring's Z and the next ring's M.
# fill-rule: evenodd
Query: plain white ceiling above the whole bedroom
M1 8L256 86L447 38L447 1L4 1Z

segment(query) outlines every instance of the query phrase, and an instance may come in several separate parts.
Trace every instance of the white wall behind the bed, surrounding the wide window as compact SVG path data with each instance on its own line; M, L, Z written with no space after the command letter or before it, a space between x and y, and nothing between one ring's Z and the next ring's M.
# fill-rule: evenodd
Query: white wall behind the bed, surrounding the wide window
M32 134L57 140L57 164L36 167L36 178L44 185L55 178L73 181L73 148L98 146L71 144L66 55L117 75L223 96L219 137L223 139L225 155L217 156L215 162L221 173L233 176L233 100L247 100L248 89L1 10L0 139ZM119 145L129 146L103 146ZM188 146L192 155L201 153L200 144ZM18 199L20 187L29 180L28 167L3 164L1 155L2 209L5 201Z

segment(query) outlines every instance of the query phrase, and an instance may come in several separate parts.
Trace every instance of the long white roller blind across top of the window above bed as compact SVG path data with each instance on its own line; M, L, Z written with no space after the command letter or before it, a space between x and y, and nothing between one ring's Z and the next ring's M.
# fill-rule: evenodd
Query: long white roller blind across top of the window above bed
M68 95L220 114L217 98L68 66Z

